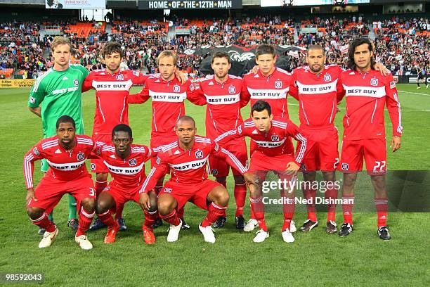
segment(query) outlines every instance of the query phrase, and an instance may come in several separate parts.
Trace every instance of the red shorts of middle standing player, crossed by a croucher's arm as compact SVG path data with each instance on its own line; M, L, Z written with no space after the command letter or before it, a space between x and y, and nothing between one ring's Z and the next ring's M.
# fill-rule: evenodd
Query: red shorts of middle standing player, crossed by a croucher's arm
M247 144L245 139L240 139L239 141L233 141L231 143L221 145L230 153L233 153L235 157L242 163L244 167L247 166L248 153ZM227 177L230 170L230 166L225 160L217 158L215 156L209 156L209 170L214 177ZM240 172L232 168L233 175L240 175Z

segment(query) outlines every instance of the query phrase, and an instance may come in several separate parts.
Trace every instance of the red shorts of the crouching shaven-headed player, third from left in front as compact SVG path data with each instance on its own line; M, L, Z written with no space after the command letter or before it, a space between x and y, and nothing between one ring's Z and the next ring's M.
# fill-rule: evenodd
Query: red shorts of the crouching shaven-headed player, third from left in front
M163 193L173 196L178 203L176 210L183 208L188 201L203 210L207 210L207 195L217 186L222 186L222 184L209 179L204 179L200 184L180 184L169 180L164 184L158 196L161 196Z

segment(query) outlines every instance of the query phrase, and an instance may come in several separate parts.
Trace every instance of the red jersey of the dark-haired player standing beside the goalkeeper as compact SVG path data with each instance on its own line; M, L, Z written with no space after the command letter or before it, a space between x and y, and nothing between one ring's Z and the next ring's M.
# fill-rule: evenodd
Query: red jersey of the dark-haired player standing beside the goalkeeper
M96 90L93 136L111 134L122 123L129 124L129 91L134 84L144 84L149 75L123 70L110 74L106 70L93 70L86 77L82 91Z

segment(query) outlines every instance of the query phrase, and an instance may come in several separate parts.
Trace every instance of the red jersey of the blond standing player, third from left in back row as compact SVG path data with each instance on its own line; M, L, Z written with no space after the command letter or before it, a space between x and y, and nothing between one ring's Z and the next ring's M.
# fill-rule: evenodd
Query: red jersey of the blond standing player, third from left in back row
M175 77L167 82L159 74L152 75L145 81L145 88L139 96L141 103L152 98L151 136L175 136L176 121L185 115L185 98L193 103L201 102L194 84L189 80L181 84Z

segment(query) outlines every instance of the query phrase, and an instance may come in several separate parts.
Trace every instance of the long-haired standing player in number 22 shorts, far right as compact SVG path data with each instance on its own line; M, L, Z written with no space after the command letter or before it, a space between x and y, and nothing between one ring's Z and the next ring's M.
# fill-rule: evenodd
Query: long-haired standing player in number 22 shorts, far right
M353 231L352 208L357 172L362 170L363 157L367 173L374 187L377 209L377 234L383 240L391 238L386 228L388 197L385 184L386 136L384 107L389 111L393 125L392 151L400 148L403 131L396 82L391 74L383 76L374 70L373 46L369 39L354 39L349 46L348 68L341 73L345 89L346 113L341 148L340 169L344 172L342 209L344 224L340 236Z

